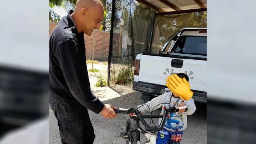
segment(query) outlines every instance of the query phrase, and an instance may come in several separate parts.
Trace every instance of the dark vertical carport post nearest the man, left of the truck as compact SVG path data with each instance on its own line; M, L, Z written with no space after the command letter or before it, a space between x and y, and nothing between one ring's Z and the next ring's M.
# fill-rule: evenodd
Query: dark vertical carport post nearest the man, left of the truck
M108 79L107 85L109 86L109 78L110 78L110 64L112 57L112 46L113 46L113 27L115 21L115 10L116 10L116 1L112 0L112 12L111 12L111 28L110 28L110 38L109 38L109 50L108 50Z

